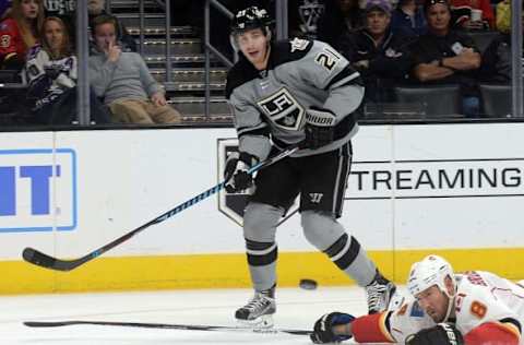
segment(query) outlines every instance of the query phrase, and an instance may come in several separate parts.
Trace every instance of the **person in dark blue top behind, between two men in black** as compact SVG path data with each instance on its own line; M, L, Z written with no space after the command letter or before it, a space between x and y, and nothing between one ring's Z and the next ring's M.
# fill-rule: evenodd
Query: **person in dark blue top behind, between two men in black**
M418 37L428 31L422 9L416 0L401 0L391 14L391 29L395 35Z

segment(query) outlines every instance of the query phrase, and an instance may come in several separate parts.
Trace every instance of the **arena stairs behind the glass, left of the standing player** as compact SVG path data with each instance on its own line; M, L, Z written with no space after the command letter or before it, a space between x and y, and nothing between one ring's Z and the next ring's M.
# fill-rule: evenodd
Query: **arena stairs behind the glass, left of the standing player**
M186 121L210 120L203 117L205 107L205 70L203 45L196 31L190 26L171 26L171 76L166 83L165 10L156 1L146 0L144 45L142 56L153 76L164 83L168 103L176 107ZM115 14L136 39L140 37L139 0L112 0ZM176 25L176 23L172 23ZM219 122L231 122L224 97L227 69L212 59L210 114Z

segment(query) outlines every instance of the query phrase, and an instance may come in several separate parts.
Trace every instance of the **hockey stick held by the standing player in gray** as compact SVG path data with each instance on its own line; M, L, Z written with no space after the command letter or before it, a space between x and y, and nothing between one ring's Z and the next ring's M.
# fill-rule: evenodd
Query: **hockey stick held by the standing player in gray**
M298 150L298 147L294 146L294 147L290 147L286 151L283 151L279 154L277 154L273 157L270 157L270 158L265 159L264 162L261 162L261 163L254 165L253 167L251 167L248 170L248 174L253 174L253 172L255 172L255 171L258 171L258 170L260 170L260 169L262 169L266 166L270 166L273 163L275 163L277 160L281 160L282 158L289 156L290 154L293 154L297 150ZM192 205L196 204L198 202L217 193L218 191L224 189L224 187L225 187L225 181L222 181L221 183L207 189L206 191L198 194L196 197L179 204L175 209L171 209L171 210L167 211L166 213L159 215L158 217L145 223L144 225L139 226L134 230L131 230L131 231L124 234L123 236L115 239L114 241L111 241L111 242L109 242L109 243L107 243L107 245L105 245L105 246L103 246L103 247L100 247L100 248L98 248L98 249L96 249L92 252L90 252L88 254L85 254L82 258L78 258L78 259L73 259L73 260L57 259L57 258L50 257L48 254L43 253L39 250L36 250L34 248L29 248L29 247L24 249L24 251L22 252L22 257L28 263L38 265L40 267L56 270L56 271L71 271L71 270L74 270L78 266L80 266L80 265L82 265L82 264L102 255L106 251L117 247L118 245L123 243L124 241L127 241L128 239L130 239L134 235L143 231L147 227L150 227L154 224L162 223L162 222L172 217L177 213L180 213L183 210L189 209Z

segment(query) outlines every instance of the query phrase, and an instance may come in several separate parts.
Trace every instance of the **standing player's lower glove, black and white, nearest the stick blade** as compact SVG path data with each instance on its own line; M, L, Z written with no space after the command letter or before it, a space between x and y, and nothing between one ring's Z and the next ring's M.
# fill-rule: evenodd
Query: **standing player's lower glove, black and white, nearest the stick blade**
M253 176L248 174L250 167L259 159L248 153L231 153L226 160L224 182L228 193L237 193L253 186Z

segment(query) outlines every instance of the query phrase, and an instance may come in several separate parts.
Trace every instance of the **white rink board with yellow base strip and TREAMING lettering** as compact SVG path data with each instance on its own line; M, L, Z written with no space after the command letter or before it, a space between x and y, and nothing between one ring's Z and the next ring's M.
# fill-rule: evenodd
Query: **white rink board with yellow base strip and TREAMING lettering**
M248 286L245 195L213 195L70 273L21 261L28 246L83 255L215 186L235 134L2 133L0 294ZM366 126L354 151L340 221L386 275L403 282L437 252L457 270L524 277L524 124ZM296 209L277 240L279 285L350 283L306 241Z

